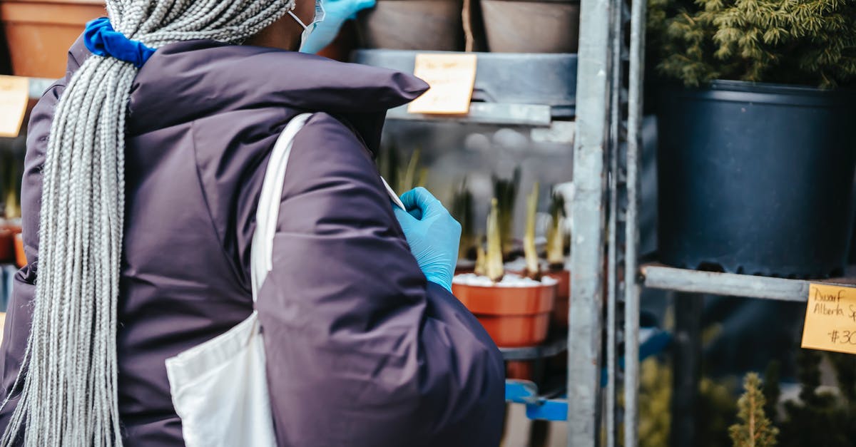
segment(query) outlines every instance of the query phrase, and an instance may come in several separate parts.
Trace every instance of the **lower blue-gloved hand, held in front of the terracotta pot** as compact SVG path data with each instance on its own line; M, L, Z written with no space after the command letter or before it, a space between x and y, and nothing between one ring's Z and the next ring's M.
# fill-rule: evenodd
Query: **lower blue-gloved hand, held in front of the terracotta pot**
M410 252L431 283L452 291L452 277L461 243L461 224L425 188L401 195L407 212L395 206L395 218L404 230Z

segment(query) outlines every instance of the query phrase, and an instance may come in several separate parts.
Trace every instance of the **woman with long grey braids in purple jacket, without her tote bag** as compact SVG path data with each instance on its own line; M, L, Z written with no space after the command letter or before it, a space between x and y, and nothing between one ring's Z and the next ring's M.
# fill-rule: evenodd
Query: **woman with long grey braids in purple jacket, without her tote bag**
M427 86L295 52L323 14L296 1L107 0L69 51L27 137L3 446L183 445L164 361L253 309L277 444L498 444L502 358L449 293L460 226L422 189L394 211L372 163ZM305 112L253 304L265 167Z

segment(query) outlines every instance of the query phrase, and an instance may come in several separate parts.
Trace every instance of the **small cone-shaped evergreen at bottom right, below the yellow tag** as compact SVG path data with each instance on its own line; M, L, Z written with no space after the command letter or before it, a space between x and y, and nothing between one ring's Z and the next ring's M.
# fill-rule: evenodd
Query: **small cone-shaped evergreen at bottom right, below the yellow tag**
M743 382L745 392L737 401L740 420L728 429L734 447L770 447L776 445L778 429L764 414L764 393L761 379L756 373L746 374Z

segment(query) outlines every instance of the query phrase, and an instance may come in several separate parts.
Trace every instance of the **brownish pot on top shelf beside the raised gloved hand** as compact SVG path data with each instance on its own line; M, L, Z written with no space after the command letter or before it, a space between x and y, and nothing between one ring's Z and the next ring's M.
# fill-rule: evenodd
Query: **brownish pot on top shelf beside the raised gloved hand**
M462 51L463 0L377 0L357 15L363 48Z

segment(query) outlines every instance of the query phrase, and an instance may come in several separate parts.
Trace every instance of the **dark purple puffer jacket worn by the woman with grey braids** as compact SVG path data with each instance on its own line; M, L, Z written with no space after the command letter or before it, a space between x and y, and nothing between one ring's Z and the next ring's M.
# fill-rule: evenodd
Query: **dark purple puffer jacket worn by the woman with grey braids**
M89 53L79 42L69 54L70 75ZM40 166L66 82L45 93L29 128L31 264L15 278L3 333L7 392L30 330ZM183 444L163 361L252 312L265 166L282 128L305 111L318 113L294 140L258 303L278 444L499 444L502 357L453 295L425 281L372 163L386 110L425 88L383 69L207 41L163 47L140 70L128 104L118 330L127 445Z

